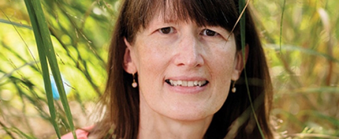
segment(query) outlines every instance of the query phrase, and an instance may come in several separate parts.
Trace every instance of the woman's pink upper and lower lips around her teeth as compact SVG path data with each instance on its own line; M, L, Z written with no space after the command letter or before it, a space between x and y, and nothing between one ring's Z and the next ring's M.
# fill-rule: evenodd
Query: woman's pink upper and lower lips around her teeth
M193 81L193 80L207 80L203 77L169 77L166 79L172 79L172 80L187 80L187 81ZM208 80L207 80L208 81ZM197 94L199 92L202 92L207 88L209 85L206 84L204 86L171 86L168 83L165 82L164 84L171 92L180 93L180 94Z

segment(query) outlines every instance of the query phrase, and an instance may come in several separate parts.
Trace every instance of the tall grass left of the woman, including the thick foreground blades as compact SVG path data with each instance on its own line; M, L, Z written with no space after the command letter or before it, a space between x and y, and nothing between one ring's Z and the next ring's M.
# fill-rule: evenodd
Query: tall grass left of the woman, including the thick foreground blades
M80 107L80 110L73 112L75 127L79 128L87 124L81 122L87 119L81 117L88 113L85 109L86 104L95 101L96 99L93 98L98 98L104 87L103 58L106 57L106 49L102 46L104 46L103 42L108 42L109 26L112 26L111 21L115 12L114 7L106 2L114 4L115 1L87 1L83 6L80 5L83 3L75 1L73 2L77 5L75 7L61 0L41 2L44 11L39 7L40 0L27 0L25 3L8 0L0 6L3 11L1 17L8 17L0 20L1 28L4 28L0 40L0 58L3 60L0 68L1 103L3 104L1 104L0 124L5 131L0 133L1 139L7 137L49 139L74 132L73 120L56 60L63 77L69 82L66 83L66 87L71 88L68 98L71 102L75 101L70 107L75 107L74 105L77 106L73 109ZM27 18L28 14L24 6L27 7L30 20ZM22 11L19 10L21 8ZM16 11L10 12L12 9ZM17 18L18 14L25 18ZM77 14L82 16L77 17ZM43 19L45 16L46 20ZM95 24L94 21L100 24ZM5 33L6 28L16 30ZM33 31L35 37L32 37ZM93 31L98 32L93 34ZM23 37L22 40L10 38L18 34ZM21 48L18 49L17 46ZM49 74L49 71L52 71L52 74ZM60 98L53 98L50 85L52 75L60 92ZM60 106L60 101L64 108ZM82 114L77 116L79 113ZM51 125L54 128L50 127ZM54 132L51 131L53 129Z

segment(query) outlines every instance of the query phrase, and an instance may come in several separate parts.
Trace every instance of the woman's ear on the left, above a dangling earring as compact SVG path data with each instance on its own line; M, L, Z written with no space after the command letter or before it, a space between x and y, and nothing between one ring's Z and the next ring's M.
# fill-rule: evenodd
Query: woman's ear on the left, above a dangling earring
M126 50L124 54L124 70L128 73L136 73L137 72L137 67L134 64L132 55L134 55L134 52L132 50L131 44L124 38L124 42L126 45Z

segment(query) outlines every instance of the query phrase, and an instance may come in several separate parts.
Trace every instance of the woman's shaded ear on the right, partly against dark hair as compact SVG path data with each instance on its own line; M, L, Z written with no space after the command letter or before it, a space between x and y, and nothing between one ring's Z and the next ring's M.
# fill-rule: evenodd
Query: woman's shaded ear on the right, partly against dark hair
M243 51L245 51L245 53L243 54ZM247 58L248 58L248 44L246 44L244 50L238 51L236 52L236 56L234 59L234 69L233 69L233 73L232 73L232 80L238 80L240 77L240 74L242 72L242 70L244 69L246 62L247 62Z

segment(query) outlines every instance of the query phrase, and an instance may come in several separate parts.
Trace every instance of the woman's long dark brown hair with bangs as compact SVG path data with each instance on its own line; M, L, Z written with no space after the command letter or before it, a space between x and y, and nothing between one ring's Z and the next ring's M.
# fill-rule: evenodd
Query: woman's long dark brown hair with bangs
M170 13L169 19L190 20L199 26L221 26L228 31L232 30L239 17L238 0L123 0L121 4L109 50L107 86L100 100L102 110L105 107L104 117L90 133L100 139L137 139L138 136L139 88L132 87L132 75L123 69L125 37L133 42L136 33L147 27L157 12ZM260 139L258 125L265 138L273 138L269 125L272 84L249 9L246 9L245 18L246 44L249 46L245 67L248 89L245 72L242 72L236 83L237 92L230 92L221 109L214 114L205 139L223 139L226 135L236 139ZM240 27L236 25L233 33L237 50L241 51L239 32ZM258 124L251 111L248 91Z

